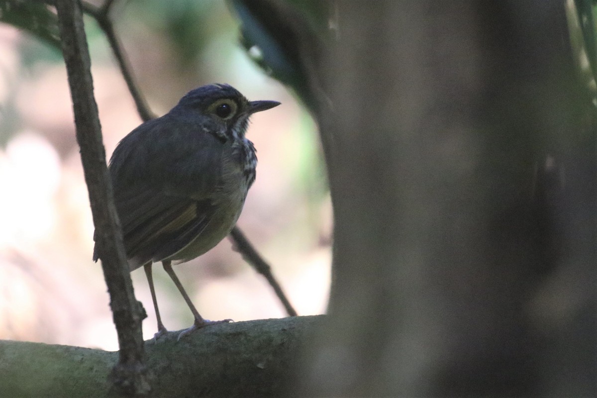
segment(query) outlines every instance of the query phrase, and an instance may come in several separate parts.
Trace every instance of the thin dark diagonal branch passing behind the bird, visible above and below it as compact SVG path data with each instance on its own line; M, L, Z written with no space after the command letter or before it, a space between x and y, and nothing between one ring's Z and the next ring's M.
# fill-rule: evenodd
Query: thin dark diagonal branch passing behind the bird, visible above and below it
M100 26L101 30L103 30L103 32L106 34L110 48L112 48L112 52L114 53L116 61L118 62L118 66L120 67L122 77L127 83L128 90L131 92L131 96L133 97L133 100L137 106L137 112L139 112L139 115L143 121L148 121L155 118L155 115L149 110L149 106L147 106L143 95L135 83L133 72L131 71L128 60L124 55L124 51L122 51L122 46L118 41L118 37L113 29L112 21L110 21L109 18L110 7L112 7L114 3L115 0L106 0L101 7L96 7L95 5L84 1L82 2L82 6L85 13L93 17L97 21L97 24ZM291 306L290 301L285 296L278 281L273 276L271 267L266 263L265 260L263 260L263 258L259 255L259 252L257 252L254 246L251 245L251 242L247 240L242 231L235 226L230 233L230 238L236 244L238 252L242 255L245 261L247 261L247 263L249 263L258 273L262 274L267 279L267 282L269 282L269 284L272 286L288 315L297 316L296 310L294 310L293 306Z

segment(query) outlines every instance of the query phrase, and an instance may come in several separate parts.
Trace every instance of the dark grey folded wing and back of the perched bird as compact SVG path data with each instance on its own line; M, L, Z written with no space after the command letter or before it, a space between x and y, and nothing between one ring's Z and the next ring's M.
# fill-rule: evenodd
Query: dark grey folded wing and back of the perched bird
M110 159L131 269L183 249L216 211L223 143L167 116L134 129Z

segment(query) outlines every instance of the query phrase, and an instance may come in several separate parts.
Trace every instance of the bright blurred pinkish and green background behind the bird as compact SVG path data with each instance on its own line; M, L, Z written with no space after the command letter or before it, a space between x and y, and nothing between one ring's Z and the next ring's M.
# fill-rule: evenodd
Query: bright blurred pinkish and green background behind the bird
M101 4L101 1L96 1ZM226 82L250 100L282 106L252 119L257 180L238 226L270 262L301 315L324 313L330 284L331 204L310 116L238 44L224 1L131 0L112 10L141 92L157 115L204 84ZM86 19L107 156L140 124L106 38ZM91 261L93 221L59 49L0 24L0 339L118 347L100 264ZM192 315L159 264L158 301L170 330ZM236 321L285 316L266 281L230 240L175 267L199 312ZM132 274L156 331L143 271Z

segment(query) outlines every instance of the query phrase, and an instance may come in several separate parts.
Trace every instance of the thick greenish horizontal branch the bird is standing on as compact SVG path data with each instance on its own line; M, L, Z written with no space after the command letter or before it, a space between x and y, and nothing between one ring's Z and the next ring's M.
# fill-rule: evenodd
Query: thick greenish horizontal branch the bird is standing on
M152 397L278 397L298 353L324 316L226 323L177 341L146 341ZM1 341L0 396L105 397L118 353ZM35 360L32 360L35 358Z

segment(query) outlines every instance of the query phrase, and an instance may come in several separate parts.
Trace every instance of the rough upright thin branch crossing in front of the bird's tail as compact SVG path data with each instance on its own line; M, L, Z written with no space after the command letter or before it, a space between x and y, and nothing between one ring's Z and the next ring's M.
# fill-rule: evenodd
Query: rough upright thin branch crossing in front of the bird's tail
M118 334L119 361L112 369L116 393L144 396L149 392L141 333L141 308L133 293L122 233L107 172L97 104L93 97L91 61L78 0L57 0L60 44L66 63L75 113L76 138L81 148L85 182L96 226L96 241L110 307Z

